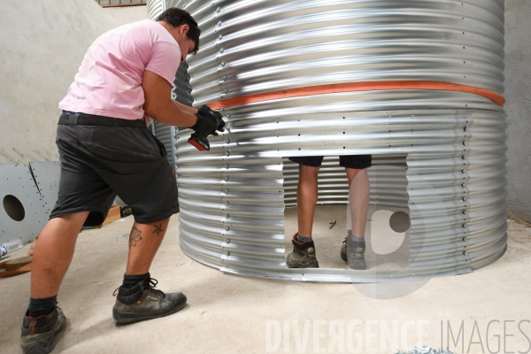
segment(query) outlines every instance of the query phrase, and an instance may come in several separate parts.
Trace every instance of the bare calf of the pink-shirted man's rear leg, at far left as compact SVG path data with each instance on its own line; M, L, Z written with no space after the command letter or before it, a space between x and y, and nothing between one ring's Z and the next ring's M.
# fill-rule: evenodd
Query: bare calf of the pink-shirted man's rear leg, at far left
M89 212L75 212L50 219L35 244L31 270L31 297L58 295L73 257L77 236Z

